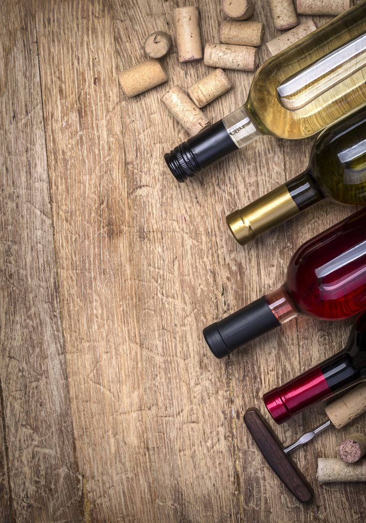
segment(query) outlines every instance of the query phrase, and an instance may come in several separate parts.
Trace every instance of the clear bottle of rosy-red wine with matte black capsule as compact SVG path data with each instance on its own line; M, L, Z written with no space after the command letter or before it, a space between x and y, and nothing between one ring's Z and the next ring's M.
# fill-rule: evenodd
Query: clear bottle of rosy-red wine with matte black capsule
M286 282L203 329L222 358L298 314L341 320L366 309L366 208L305 242L292 256Z

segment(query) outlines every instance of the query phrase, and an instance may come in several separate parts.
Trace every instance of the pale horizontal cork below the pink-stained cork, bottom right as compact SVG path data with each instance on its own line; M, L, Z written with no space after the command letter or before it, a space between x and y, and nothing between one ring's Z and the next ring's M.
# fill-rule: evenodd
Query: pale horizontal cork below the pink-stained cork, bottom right
M366 481L366 460L345 463L338 458L318 458L319 483Z

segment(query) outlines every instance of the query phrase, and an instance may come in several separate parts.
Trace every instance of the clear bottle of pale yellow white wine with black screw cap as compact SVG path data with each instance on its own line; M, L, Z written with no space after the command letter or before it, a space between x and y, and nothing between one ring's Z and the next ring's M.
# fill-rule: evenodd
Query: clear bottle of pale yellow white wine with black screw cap
M366 103L365 67L366 0L262 64L244 106L165 161L185 181L263 134L309 137Z

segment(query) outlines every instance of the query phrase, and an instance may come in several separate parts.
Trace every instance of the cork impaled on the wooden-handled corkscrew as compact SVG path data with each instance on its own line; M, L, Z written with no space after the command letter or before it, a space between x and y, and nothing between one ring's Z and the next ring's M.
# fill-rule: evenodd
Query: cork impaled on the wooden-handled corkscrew
M358 385L339 400L325 407L325 413L336 428L342 428L352 419L366 412L366 383Z

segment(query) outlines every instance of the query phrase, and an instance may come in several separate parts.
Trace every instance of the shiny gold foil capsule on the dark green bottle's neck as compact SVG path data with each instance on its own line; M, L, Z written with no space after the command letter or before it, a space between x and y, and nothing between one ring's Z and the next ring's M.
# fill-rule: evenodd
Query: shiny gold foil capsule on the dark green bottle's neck
M299 212L283 184L243 209L228 214L226 223L235 240L245 245Z

